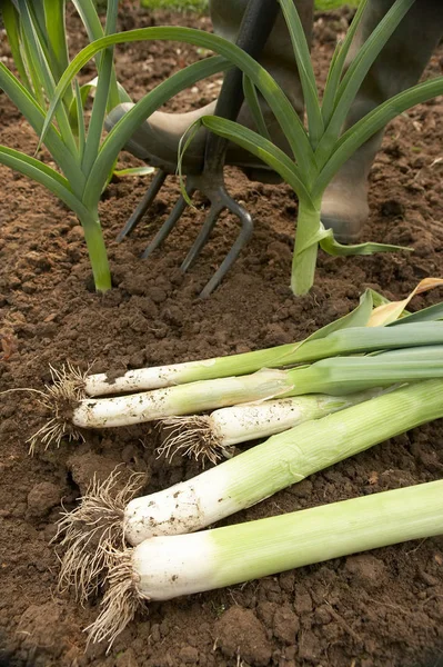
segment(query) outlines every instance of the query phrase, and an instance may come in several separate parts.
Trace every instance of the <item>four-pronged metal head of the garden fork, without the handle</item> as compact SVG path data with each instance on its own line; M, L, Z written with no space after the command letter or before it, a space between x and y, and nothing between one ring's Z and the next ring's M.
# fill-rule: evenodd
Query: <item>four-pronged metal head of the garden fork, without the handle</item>
M161 187L163 186L167 177L168 172L161 169L155 173L151 186L144 195L143 199L140 201L131 218L128 220L127 225L117 237L118 241L123 240L124 237L129 236L133 231L133 229L140 222L149 207L152 205ZM239 257L242 248L250 240L253 231L253 221L250 213L234 199L232 199L230 195L228 195L222 173L214 175L213 172L203 171L201 175L188 176L185 189L188 198L190 199L192 198L193 193L197 190L199 190L209 199L211 206L194 243L192 245L190 251L188 252L180 267L183 272L187 272L188 269L190 269L195 262L197 258L207 245L211 231L217 225L220 213L223 210L228 210L233 216L235 216L240 220L241 226L239 236L236 237L230 251L228 252L226 257L224 258L220 267L217 269L210 281L205 285L200 295L202 298L205 298L209 297L213 292L213 290L220 285L226 272L230 270L230 268ZM157 250L157 248L159 248L161 243L168 238L168 236L171 233L177 222L179 221L180 217L183 215L183 211L187 207L188 202L185 198L181 195L172 211L168 216L167 220L163 222L163 225L161 226L150 245L143 251L143 258L147 258L150 255L152 255L152 252Z

